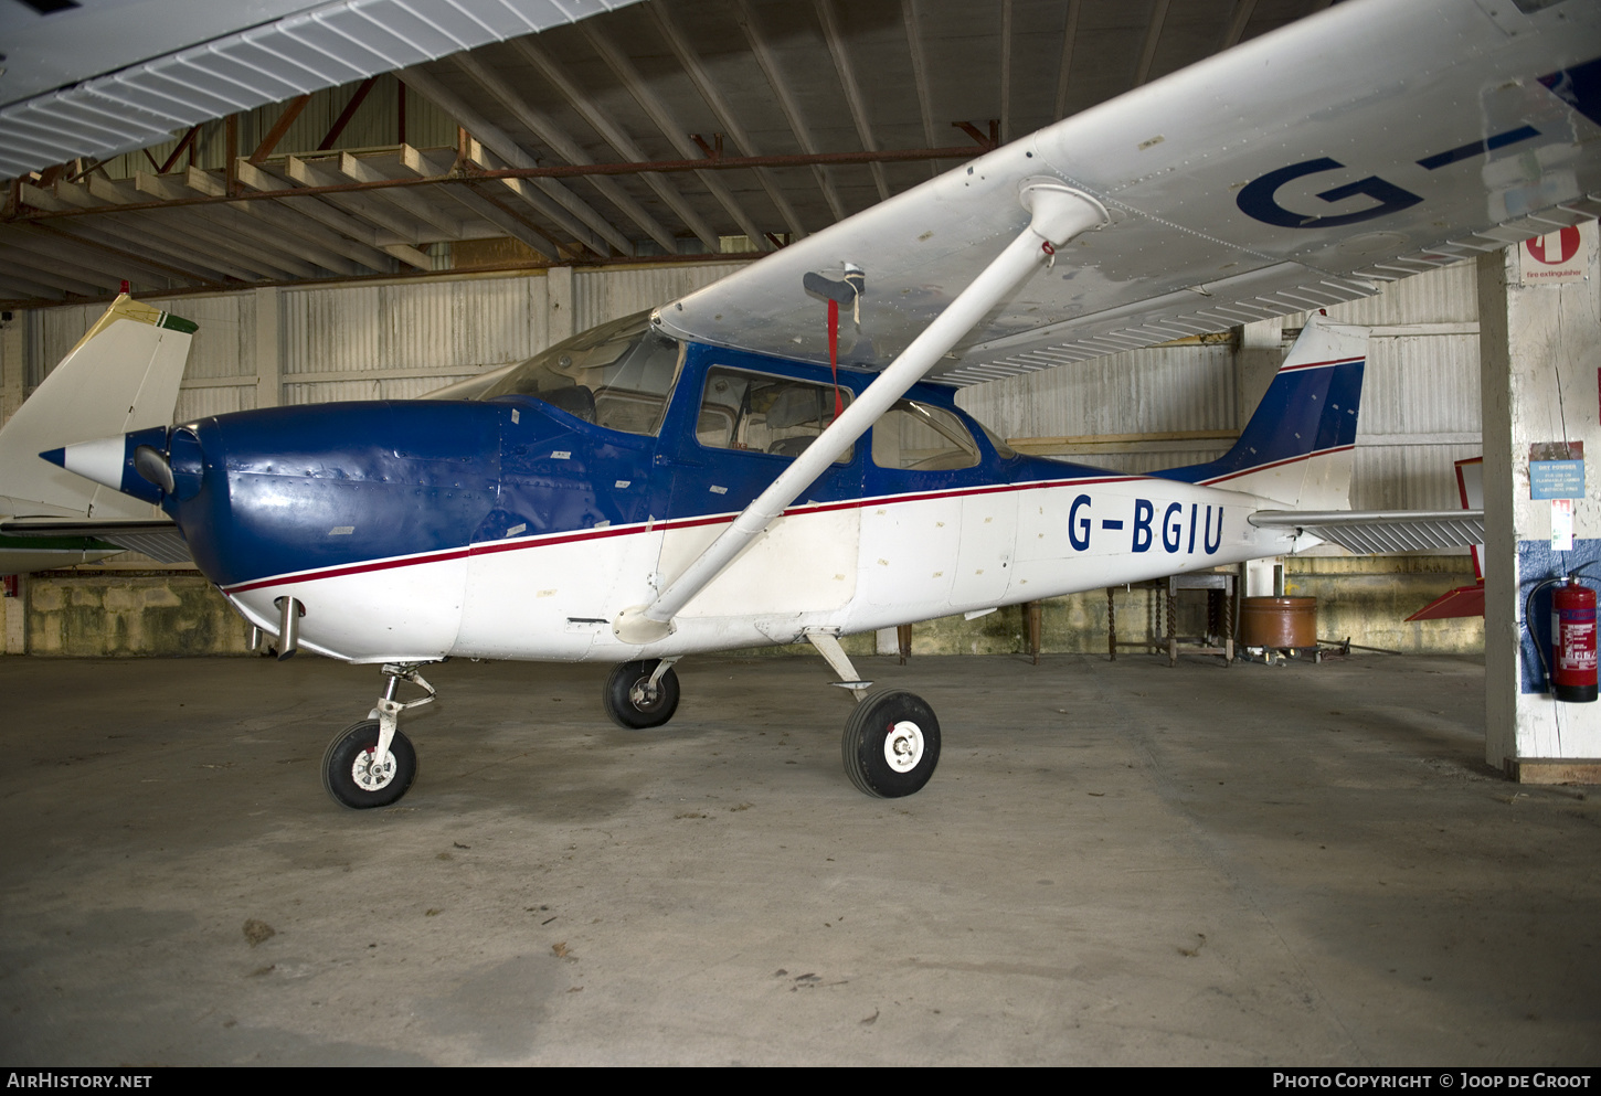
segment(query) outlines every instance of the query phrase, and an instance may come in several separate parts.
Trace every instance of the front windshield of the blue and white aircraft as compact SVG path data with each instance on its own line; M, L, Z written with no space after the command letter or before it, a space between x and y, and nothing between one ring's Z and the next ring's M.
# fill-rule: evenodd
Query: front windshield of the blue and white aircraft
M639 312L533 355L479 398L532 395L584 422L655 437L682 365L684 346Z

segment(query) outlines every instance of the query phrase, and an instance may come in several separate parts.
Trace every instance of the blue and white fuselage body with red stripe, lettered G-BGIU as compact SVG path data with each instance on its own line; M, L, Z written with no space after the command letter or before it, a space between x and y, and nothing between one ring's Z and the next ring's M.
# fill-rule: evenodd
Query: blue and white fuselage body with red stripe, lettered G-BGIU
M844 398L873 376L841 371ZM752 443L720 424L714 389L752 378L826 386L833 405L828 370L692 344L653 437L528 395L247 411L175 430L168 509L248 619L277 632L275 605L293 597L301 645L354 662L789 643L1289 549L1247 523L1260 499L997 451L949 389L917 386L922 419L885 416L874 432L897 437L861 438L671 637L623 643L616 614L648 602L792 458L767 440L783 430ZM749 410L746 395L727 418ZM780 402L765 419L786 421ZM957 434L953 419L972 451L933 429Z

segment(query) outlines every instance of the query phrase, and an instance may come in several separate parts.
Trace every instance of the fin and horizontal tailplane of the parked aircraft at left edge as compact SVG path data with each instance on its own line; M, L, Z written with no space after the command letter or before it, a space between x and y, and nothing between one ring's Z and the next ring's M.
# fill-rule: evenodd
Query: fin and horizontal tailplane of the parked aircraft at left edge
M149 502L45 464L67 438L165 427L195 325L118 296L0 427L0 574L70 566L128 549L162 562L189 552Z

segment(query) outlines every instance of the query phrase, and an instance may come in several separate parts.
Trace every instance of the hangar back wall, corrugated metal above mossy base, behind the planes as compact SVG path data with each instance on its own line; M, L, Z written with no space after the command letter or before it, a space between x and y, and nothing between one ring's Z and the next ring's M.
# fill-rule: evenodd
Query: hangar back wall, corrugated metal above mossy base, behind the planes
M607 320L674 299L728 270L725 262L520 275L439 277L338 286L274 286L163 298L200 325L176 419L327 400L411 398L519 362ZM80 304L14 314L5 326L6 395L21 402L99 318ZM1372 376L1358 434L1353 504L1454 509L1454 461L1479 453L1478 314L1471 264L1407 278L1330 309L1375 328ZM957 402L1013 445L1071 453L1085 464L1138 472L1218 456L1255 408L1252 347L1282 354L1300 317L1263 320L1220 341L1134 350L1061 370L962 389ZM1244 354L1242 354L1244 349ZM1276 365L1274 365L1276 368ZM14 406L14 405L13 405ZM1202 435L1196 438L1196 435ZM1063 443L1061 438L1074 438ZM1199 448L1207 445L1210 448ZM1481 618L1407 624L1446 590L1471 584L1467 550L1351 557L1343 549L1289 560L1289 587L1318 597L1324 638L1412 653L1483 650ZM8 598L14 653L242 653L248 627L183 565L123 555L61 574L35 574ZM1146 595L1121 594L1143 618ZM14 608L10 608L13 606ZM1044 606L1042 650L1105 650L1100 590ZM996 619L933 621L913 632L917 653L1012 653L1028 637L1020 610ZM860 643L868 643L863 637Z

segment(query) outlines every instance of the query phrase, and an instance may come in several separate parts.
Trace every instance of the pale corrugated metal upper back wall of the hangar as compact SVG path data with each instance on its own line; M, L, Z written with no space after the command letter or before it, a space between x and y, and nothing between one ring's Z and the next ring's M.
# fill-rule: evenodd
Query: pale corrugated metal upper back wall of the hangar
M580 270L575 330L663 304L736 264ZM552 341L551 280L541 274L287 288L171 298L162 307L200 325L179 397L181 419L253 408L263 346L277 346L280 403L411 398L522 360ZM32 387L101 309L29 317ZM266 315L263 320L261 317ZM1358 434L1353 506L1451 509L1452 462L1479 453L1478 298L1471 264L1407 278L1330 310L1375 328ZM258 322L277 323L263 338ZM1303 317L1289 317L1295 328ZM272 363L266 374L271 387ZM964 389L959 403L1004 437L1085 437L1239 429L1236 355L1228 344L1119 354ZM271 394L269 394L271 395ZM263 400L266 402L266 400ZM1204 461L1226 446L1076 458L1145 472Z

